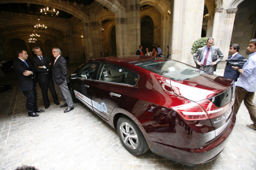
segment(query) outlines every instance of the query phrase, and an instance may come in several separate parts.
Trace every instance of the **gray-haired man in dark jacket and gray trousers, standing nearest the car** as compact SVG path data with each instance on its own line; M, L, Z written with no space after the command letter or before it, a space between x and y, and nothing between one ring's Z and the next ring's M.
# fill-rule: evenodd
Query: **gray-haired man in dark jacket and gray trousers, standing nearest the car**
M52 48L52 55L55 58L52 67L52 78L61 99L64 102L64 105L61 105L61 108L68 107L64 111L64 113L66 113L74 109L72 96L67 86L67 83L69 83L67 78L67 62L64 57L61 57L61 50L59 48Z

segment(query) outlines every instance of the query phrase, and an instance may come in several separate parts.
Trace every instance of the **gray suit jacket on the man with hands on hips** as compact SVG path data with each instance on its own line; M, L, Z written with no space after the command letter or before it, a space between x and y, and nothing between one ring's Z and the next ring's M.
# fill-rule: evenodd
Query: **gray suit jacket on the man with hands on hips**
M203 58L203 54L205 51L205 47L199 48L198 51L194 54L194 61L196 63L196 67L199 68L198 62L201 62ZM216 62L217 64L223 59L224 55L222 54L221 50L218 47L212 46L212 62ZM217 64L214 65L214 71L217 69Z

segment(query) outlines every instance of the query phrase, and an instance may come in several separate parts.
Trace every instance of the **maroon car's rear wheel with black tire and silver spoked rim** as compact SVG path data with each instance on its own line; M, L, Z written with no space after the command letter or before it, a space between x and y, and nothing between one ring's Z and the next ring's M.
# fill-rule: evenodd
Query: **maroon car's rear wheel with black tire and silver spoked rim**
M121 116L117 120L118 136L128 152L134 155L142 155L148 150L148 144L139 127L127 116Z

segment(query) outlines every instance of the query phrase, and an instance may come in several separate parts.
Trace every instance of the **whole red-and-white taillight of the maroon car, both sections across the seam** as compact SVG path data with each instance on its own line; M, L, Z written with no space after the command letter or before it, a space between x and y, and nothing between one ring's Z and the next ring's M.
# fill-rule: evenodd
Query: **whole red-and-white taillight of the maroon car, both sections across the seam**
M180 113L180 115L185 120L204 120L212 119L214 117L220 116L225 113L227 106L217 108L211 101L208 99L191 102L189 104L177 106L173 109Z

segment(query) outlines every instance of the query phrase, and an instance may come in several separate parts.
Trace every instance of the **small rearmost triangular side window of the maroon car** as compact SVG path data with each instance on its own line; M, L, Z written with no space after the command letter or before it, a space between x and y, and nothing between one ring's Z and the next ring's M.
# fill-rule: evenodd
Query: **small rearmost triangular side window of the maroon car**
M120 77L119 83L135 85L139 79L139 76L127 69L124 69L122 72L122 76Z

